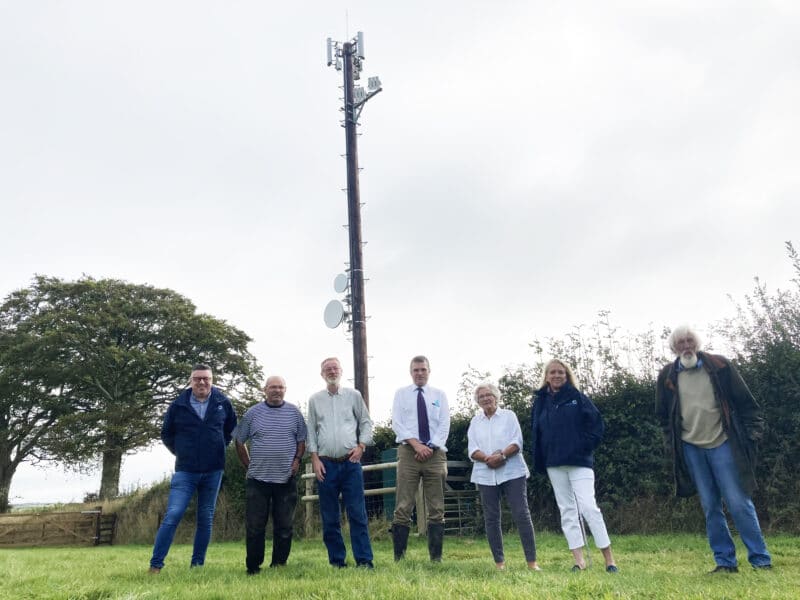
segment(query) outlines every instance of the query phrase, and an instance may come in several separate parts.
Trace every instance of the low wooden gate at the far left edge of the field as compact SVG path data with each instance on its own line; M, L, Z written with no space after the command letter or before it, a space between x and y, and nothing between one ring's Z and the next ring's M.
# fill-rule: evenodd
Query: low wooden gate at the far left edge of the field
M0 515L0 548L112 544L117 515L101 507L80 512Z

